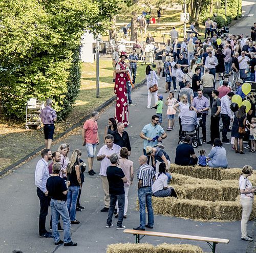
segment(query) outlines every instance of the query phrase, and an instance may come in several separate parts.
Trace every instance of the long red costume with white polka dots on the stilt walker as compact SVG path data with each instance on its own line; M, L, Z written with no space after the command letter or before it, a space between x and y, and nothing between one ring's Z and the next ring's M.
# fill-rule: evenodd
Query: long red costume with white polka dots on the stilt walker
M125 70L124 63L118 63L120 70ZM117 68L119 68L117 66ZM116 94L115 120L122 122L125 127L129 126L129 111L127 105L126 73L116 73L114 93Z

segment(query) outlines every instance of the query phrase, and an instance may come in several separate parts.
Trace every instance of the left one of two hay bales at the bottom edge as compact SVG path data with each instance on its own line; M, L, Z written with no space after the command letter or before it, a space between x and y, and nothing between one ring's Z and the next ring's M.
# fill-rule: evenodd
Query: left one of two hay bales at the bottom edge
M156 249L148 243L117 243L110 244L106 248L106 253L155 253Z

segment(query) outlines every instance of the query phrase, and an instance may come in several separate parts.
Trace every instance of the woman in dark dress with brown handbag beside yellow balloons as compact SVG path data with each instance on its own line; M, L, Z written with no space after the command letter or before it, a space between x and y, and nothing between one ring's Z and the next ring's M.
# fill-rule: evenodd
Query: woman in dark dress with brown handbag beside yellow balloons
M245 122L246 122L246 106L240 106L239 110L234 113L234 121L231 131L231 137L234 137L234 148L236 153L244 154L243 137L245 134ZM238 139L240 151L238 151Z

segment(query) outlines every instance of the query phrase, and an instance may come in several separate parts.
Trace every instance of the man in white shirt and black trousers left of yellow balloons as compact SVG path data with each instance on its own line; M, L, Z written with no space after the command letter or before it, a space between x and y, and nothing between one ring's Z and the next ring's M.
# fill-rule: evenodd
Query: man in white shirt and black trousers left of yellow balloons
M230 109L230 100L234 96L234 93L229 92L227 95L221 98L221 119L223 123L222 129L222 143L230 143L227 139L227 131L229 129L230 121L233 121L232 112Z

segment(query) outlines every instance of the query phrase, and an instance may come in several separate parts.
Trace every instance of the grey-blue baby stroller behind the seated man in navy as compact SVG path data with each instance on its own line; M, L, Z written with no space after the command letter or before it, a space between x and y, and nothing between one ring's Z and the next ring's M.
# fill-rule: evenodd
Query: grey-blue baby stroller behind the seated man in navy
M184 137L189 135L191 137L191 145L197 148L203 144L203 139L199 137L199 127L202 123L202 114L197 118L197 113L194 110L186 110L181 116L182 132L179 137L179 144L184 142Z

